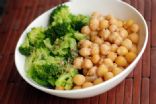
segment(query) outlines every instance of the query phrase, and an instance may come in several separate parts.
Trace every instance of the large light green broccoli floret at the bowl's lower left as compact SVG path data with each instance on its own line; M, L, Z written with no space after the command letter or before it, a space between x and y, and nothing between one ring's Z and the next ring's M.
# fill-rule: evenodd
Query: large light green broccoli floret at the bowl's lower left
M52 57L49 51L39 48L27 57L28 76L40 85L55 86L55 81L65 72L64 58Z

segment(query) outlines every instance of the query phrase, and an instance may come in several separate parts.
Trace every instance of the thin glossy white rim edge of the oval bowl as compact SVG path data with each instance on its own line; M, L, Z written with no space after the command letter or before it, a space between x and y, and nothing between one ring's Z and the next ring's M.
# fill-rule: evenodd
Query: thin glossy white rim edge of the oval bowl
M46 88L46 87L44 87L44 86L42 86L42 85L39 85L39 84L37 84L37 83L35 84L35 83L31 82L30 79L29 79L27 76L23 76L22 73L20 73L19 68L18 68L18 64L17 64L17 60L18 60L18 58L17 58L17 57L18 57L18 56L17 56L17 51L18 51L19 40L21 39L21 37L22 37L23 33L25 32L25 30L26 30L34 21L36 21L37 18L40 18L42 15L45 15L45 13L47 13L47 12L53 10L54 8L56 8L56 7L58 6L58 5L56 5L56 6L54 6L53 8L48 9L47 11L45 11L44 13L42 13L41 15L39 15L38 17L36 17L36 18L26 27L26 29L24 29L24 31L22 32L21 36L19 37L18 42L17 42L17 44L16 44L16 48L15 48L14 59L15 59L16 69L17 69L18 73L20 74L20 76L21 76L27 83L29 83L31 86L33 86L33 87L35 87L36 89L39 89L39 90L41 90L41 91L44 91L44 92L47 92L47 93L69 94L69 93L77 93L77 92L81 93L81 92L84 92L84 91L91 91L91 90L100 88L100 87L105 86L105 85L107 85L107 84L109 84L109 83L111 83L111 82L116 81L116 79L118 79L118 78L120 78L121 76L123 76L124 74L126 74L126 73L127 73L127 70L128 70L128 69L130 70L130 67L135 66L135 64L139 61L139 59L141 58L142 54L144 53L145 48L146 48L146 45L147 45L147 42L148 42L148 35L149 35L149 34L148 34L147 23L146 23L144 17L141 15L141 13L140 13L138 10L136 10L134 7L132 7L131 5L129 5L129 4L125 3L125 2L123 2L123 1L120 1L120 0L116 0L116 1L121 2L123 5L126 5L128 8L131 8L133 11L135 11L135 12L139 15L139 17L140 17L140 18L142 19L142 21L143 21L143 24L144 24L144 26L145 26L145 32L146 32L146 33L145 33L145 40L144 40L144 43L143 43L143 46L142 46L140 52L138 53L138 55L137 55L137 57L135 58L135 60L134 60L128 67L126 67L124 71L122 71L120 74L114 76L112 79L109 79L108 81L105 81L104 83L100 83L100 84L94 85L94 86L92 86L92 87L88 87L88 88L85 88L85 89L63 90L63 91L62 91L62 90L55 90L55 89ZM68 1L68 2L65 2L65 3L62 3L62 4L69 5L70 3L72 3L72 2L71 2L71 1Z

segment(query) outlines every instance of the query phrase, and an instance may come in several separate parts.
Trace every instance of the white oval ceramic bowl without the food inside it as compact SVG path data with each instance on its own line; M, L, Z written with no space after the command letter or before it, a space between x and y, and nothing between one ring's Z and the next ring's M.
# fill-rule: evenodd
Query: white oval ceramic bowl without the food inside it
M104 15L112 14L115 17L118 17L120 19L135 20L140 26L139 54L136 57L136 59L119 75L115 76L114 78L108 81L105 81L102 84L95 85L93 87L80 89L80 90L59 91L59 90L48 89L41 85L38 85L37 83L35 83L33 80L31 80L26 76L26 71L24 66L25 57L19 53L18 48L21 45L21 43L23 43L26 33L29 32L32 27L47 26L49 15L53 10L52 8L47 12L43 13L37 19L35 19L22 33L15 50L15 63L16 63L17 70L19 74L23 77L23 79L26 82L28 82L30 85L52 95L65 97L65 98L86 98L86 97L91 97L91 96L104 93L110 90L111 88L115 87L122 80L124 80L138 63L139 59L141 58L145 50L147 40L148 40L147 24L143 16L135 8L120 0L75 0L75 1L73 0L72 2L67 2L65 4L70 7L71 12L74 14L81 13L84 15L90 15L92 12L98 11L103 13Z

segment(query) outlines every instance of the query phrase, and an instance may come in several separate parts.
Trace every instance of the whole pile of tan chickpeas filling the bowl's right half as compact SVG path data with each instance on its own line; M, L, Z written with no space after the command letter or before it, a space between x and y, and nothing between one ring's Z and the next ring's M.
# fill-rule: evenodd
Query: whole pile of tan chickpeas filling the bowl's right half
M81 29L88 39L78 43L79 56L73 65L81 74L73 78L73 89L90 87L122 72L138 52L139 25L132 19L120 20L98 12Z

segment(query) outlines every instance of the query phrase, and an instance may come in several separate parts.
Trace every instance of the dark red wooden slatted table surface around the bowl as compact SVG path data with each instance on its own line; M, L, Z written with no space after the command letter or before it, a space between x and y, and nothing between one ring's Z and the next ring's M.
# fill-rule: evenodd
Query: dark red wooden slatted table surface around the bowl
M156 0L125 0L145 17L149 41L133 73L112 90L87 99L64 99L43 93L20 77L14 50L22 31L41 13L65 1L6 1L0 20L0 104L156 104Z

